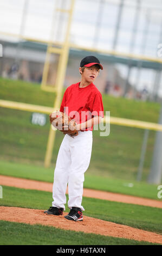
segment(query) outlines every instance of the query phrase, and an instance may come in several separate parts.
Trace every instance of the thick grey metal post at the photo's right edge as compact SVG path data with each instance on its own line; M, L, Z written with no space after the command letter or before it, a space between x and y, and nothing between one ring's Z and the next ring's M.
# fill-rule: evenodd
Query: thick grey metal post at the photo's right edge
M162 124L162 103L160 109L159 124ZM162 132L157 131L155 137L155 144L153 150L153 159L148 175L148 182L153 184L160 184L162 176Z

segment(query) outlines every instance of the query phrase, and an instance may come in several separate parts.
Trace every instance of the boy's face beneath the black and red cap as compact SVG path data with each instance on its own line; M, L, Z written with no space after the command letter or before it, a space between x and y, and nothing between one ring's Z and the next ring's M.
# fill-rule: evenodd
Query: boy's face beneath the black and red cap
M81 68L79 68L81 73L82 79L85 81L92 83L96 77L98 77L100 68L97 65L89 66L89 68L85 67L84 71L82 72Z

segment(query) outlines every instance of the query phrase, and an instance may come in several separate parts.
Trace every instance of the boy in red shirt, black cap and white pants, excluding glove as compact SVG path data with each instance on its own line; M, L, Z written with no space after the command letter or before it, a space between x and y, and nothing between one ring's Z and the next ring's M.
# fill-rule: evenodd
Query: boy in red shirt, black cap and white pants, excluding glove
M81 82L72 84L63 95L60 111L76 121L76 137L66 134L61 143L54 172L53 203L46 214L62 215L66 204L68 184L67 220L82 221L83 181L92 153L93 126L103 118L102 95L93 82L103 69L98 58L87 56L81 60Z

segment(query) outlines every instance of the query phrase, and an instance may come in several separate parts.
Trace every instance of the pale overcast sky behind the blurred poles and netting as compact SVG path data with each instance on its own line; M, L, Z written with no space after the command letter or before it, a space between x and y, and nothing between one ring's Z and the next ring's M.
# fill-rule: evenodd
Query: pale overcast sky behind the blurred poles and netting
M51 36L52 18L56 8L68 9L70 2L71 0L0 0L0 38L4 38L1 32L7 32L22 33L38 40L52 38L63 41L68 14L55 12ZM157 57L158 44L162 43L162 1L140 2L139 16L134 24L137 1L124 1L115 50ZM75 0L70 41L81 46L112 50L119 4L120 0ZM132 41L133 28L137 29L137 34ZM126 68L119 65L119 69L121 75L125 76ZM135 71L132 72L132 82L135 82L136 76ZM152 70L142 71L138 86L147 84L151 90L154 76ZM160 88L162 94L162 85Z

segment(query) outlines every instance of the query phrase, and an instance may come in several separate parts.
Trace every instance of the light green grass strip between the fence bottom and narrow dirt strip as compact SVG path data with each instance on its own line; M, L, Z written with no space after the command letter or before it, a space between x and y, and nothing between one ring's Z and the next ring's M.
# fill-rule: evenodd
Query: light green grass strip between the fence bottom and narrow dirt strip
M17 178L53 182L54 168L44 168L31 164L0 161L0 175L14 176ZM133 182L133 183L132 183ZM0 181L1 185L1 181ZM103 190L115 193L129 194L160 200L157 197L157 185L132 180L113 179L85 173L85 188Z

